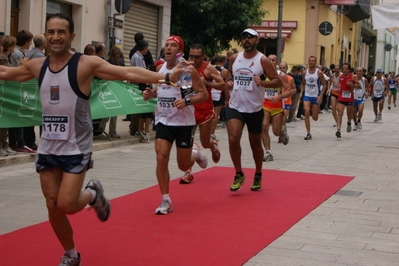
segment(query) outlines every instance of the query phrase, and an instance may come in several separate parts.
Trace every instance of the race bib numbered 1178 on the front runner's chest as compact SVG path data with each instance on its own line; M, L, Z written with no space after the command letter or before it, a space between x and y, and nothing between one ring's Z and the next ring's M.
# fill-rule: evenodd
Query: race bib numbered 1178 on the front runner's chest
M69 117L43 115L42 138L52 140L69 139Z

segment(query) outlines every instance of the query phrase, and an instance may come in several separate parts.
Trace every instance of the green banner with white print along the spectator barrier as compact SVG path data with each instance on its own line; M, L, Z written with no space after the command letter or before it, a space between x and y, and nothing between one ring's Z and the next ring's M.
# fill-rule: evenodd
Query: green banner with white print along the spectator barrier
M156 102L156 99L144 101L138 86L131 83L93 80L91 84L92 119L151 113L155 110ZM0 128L41 125L41 116L37 80L0 80Z

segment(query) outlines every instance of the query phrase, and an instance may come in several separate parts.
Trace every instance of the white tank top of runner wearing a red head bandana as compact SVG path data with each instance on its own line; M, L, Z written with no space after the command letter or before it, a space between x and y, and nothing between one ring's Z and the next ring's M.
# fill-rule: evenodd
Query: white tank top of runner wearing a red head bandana
M167 69L166 63L162 65L159 73L172 73L173 69ZM181 87L173 87L165 83L158 84L158 103L155 108L155 124L162 123L166 126L194 126L194 107L186 106L179 110L174 106L174 101L182 98L189 98L194 95L190 89L183 90Z

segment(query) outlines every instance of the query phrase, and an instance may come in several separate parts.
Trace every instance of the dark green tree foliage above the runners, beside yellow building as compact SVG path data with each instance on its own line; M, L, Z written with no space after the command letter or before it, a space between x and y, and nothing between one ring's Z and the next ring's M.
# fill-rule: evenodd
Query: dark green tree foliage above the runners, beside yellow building
M185 54L194 43L205 46L207 55L230 48L240 33L265 16L263 0L172 0L171 35L185 43Z

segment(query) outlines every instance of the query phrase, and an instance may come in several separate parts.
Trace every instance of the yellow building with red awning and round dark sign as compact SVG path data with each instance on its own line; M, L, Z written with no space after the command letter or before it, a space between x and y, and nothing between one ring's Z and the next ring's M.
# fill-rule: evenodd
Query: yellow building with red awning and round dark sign
M332 2L355 5L329 4ZM289 65L306 64L313 55L323 66L343 62L356 66L361 47L357 21L369 16L357 8L354 0L284 0L281 60ZM252 25L261 37L258 50L265 55L277 54L279 1L264 0L263 9L267 16L260 25Z

